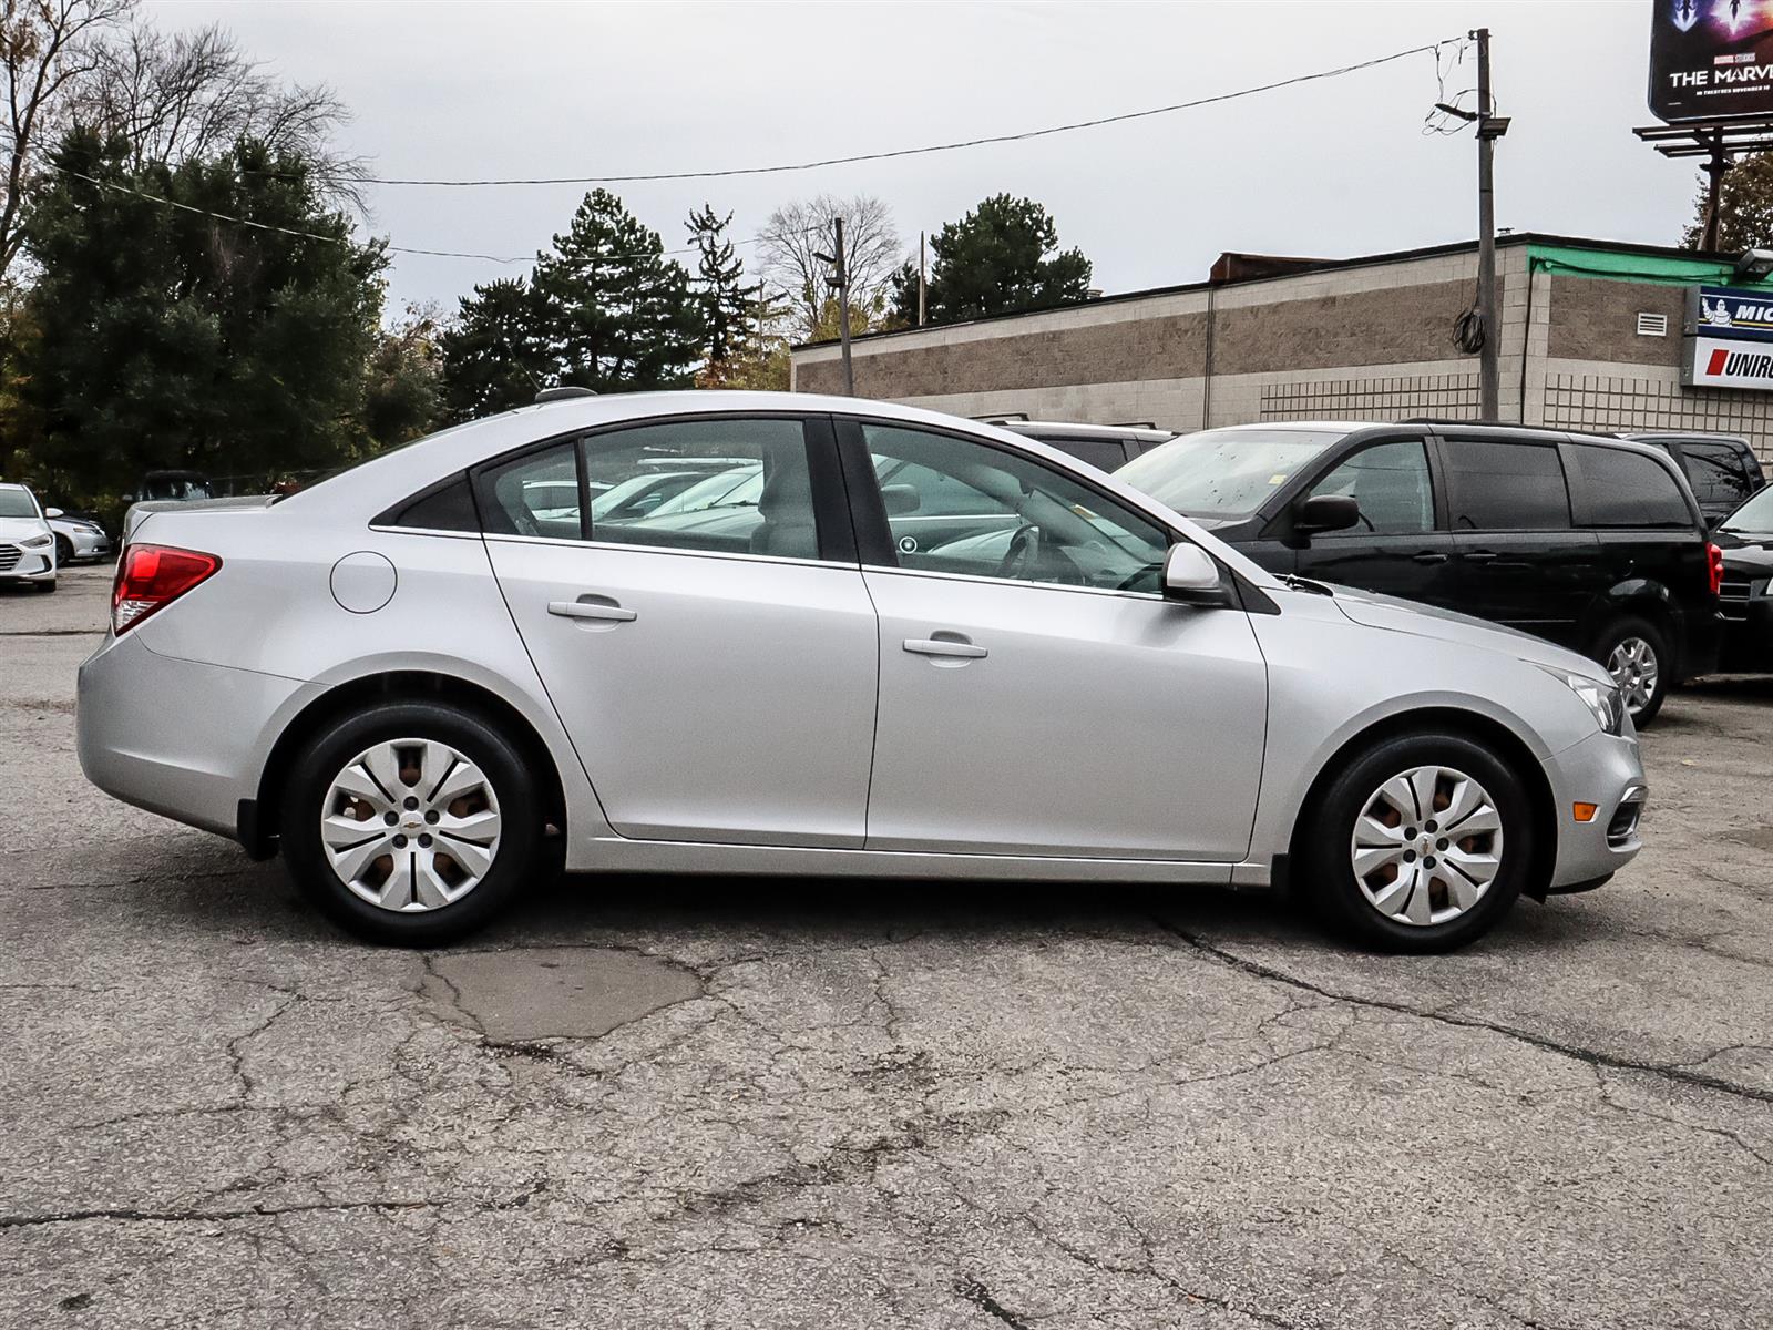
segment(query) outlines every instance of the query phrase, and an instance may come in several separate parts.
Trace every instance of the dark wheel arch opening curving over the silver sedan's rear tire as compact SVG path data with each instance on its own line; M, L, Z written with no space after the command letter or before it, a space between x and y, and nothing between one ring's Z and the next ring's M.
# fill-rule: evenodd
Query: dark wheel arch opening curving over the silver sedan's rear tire
M449 702L465 711L473 711L489 724L504 731L518 745L525 763L537 773L548 803L548 821L560 828L566 837L566 789L560 780L560 768L555 763L548 743L535 725L502 699L486 688L454 674L440 670L387 670L348 679L309 702L289 718L277 736L259 773L259 791L252 807L243 807L239 816L239 839L246 853L255 858L268 858L275 853L278 837L278 809L284 802L284 782L303 741L346 716L374 702Z

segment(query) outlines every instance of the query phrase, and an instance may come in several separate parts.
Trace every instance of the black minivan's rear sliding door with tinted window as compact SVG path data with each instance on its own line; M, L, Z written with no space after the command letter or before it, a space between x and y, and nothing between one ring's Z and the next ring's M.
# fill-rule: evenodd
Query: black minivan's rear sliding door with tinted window
M1571 521L1555 436L1449 429L1436 440L1457 562L1457 608L1583 645L1601 544Z

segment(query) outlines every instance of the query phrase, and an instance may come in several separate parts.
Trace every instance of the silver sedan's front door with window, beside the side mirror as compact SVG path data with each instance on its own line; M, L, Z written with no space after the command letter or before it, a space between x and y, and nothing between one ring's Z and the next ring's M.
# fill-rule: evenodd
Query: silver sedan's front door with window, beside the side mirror
M1248 617L1165 601L1168 534L1069 475L839 427L879 612L869 848L1241 860L1268 706ZM963 486L991 521L926 544L888 475Z

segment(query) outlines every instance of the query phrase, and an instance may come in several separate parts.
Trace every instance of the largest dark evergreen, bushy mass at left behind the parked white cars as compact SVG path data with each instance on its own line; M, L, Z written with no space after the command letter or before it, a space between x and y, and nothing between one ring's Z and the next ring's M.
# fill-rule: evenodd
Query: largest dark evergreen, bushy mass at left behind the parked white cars
M383 246L355 243L303 161L261 144L176 167L129 156L69 135L32 209L39 278L12 371L37 473L90 502L158 466L269 475L355 456Z

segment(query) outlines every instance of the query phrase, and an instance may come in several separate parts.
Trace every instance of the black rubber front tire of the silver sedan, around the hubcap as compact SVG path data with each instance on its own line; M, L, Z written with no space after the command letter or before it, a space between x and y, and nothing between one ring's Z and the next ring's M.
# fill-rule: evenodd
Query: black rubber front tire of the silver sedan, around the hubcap
M1502 818L1502 864L1464 913L1440 924L1408 924L1381 913L1367 899L1355 876L1351 842L1355 823L1379 786L1431 764L1461 771L1489 793ZM1535 819L1527 786L1507 763L1463 734L1406 734L1381 739L1344 764L1301 826L1294 871L1307 899L1337 931L1381 951L1443 952L1473 942L1509 913L1534 872L1534 841ZM1445 887L1440 890L1445 892Z

